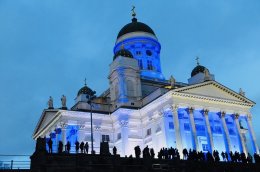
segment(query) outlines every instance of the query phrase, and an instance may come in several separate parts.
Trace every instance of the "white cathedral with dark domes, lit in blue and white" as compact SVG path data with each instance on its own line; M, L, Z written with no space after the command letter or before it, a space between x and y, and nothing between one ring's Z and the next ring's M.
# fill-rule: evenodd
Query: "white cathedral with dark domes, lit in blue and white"
M187 83L165 79L160 65L161 44L154 31L135 15L117 35L108 74L109 88L95 97L82 87L75 105L44 109L33 139L88 142L99 153L100 142L116 146L121 156L134 155L134 147L149 146L197 151L259 153L252 127L255 103L242 90L235 92L215 81L197 62ZM52 101L52 100L51 100ZM182 157L182 155L181 155Z

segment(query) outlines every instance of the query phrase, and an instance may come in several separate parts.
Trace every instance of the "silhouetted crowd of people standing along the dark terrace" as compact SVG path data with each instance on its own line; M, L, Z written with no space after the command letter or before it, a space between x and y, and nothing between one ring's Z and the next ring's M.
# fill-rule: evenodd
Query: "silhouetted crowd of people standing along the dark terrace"
M48 148L49 148L49 153L52 153L52 147L53 147L53 142L51 139L48 140L47 142ZM63 147L65 146L65 152L70 153L71 151L71 143L68 141L66 145L63 145L61 141L58 143L58 153L63 152ZM88 154L89 152L89 144L88 142L84 143L81 142L79 143L78 141L75 142L75 150L76 153L86 153ZM143 158L155 158L155 152L153 148L149 148L146 146L143 150L141 150L140 146L136 146L134 148L135 152L135 157L136 158L141 158L141 155ZM113 147L113 155L117 155L117 148L114 146ZM183 160L191 160L191 161L207 161L207 162L219 162L220 156L222 158L222 161L224 162L242 162L242 163L253 163L253 157L250 153L246 154L245 153L239 153L237 151L235 152L219 152L217 150L214 150L212 153L208 152L202 152L202 151L196 151L196 150L187 150L186 148L183 149L182 151L183 155ZM132 157L132 155L130 155ZM161 148L160 151L157 154L158 159L175 159L175 160L180 160L180 153L178 149L176 148ZM254 160L255 163L260 163L260 155L254 153Z

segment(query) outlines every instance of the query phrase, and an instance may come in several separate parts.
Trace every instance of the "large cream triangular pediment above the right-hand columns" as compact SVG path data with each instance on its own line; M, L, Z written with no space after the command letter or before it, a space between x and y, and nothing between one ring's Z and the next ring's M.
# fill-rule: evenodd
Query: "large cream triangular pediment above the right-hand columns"
M252 105L255 104L248 98L236 93L235 91L225 87L224 85L216 81L207 81L199 84L194 84L187 87L178 88L174 91L196 96L243 102Z

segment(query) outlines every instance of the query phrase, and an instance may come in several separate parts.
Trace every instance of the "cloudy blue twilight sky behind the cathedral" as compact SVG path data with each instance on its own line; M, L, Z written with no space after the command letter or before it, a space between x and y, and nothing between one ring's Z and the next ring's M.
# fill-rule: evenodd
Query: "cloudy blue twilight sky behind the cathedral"
M109 64L131 6L161 45L166 78L187 82L195 57L223 85L257 104L260 145L259 0L0 0L0 154L32 154L33 130L48 97L74 104L87 84L108 88Z

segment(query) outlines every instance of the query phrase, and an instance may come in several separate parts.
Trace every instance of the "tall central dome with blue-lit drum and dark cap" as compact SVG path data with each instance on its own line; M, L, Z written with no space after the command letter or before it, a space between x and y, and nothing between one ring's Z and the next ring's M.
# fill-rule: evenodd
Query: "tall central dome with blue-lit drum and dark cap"
M126 24L117 35L114 59L118 53L127 54L127 57L137 60L141 78L164 81L160 63L161 45L154 31L133 17L132 22ZM122 47L129 52L121 52Z

